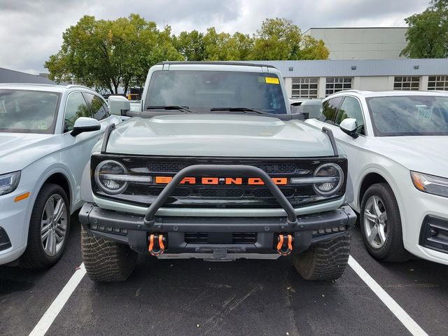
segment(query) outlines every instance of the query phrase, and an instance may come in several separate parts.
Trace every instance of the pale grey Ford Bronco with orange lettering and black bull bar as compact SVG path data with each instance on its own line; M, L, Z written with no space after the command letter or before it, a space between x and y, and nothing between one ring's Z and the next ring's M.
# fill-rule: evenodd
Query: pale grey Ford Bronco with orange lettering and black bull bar
M304 279L342 275L356 220L347 160L330 130L290 113L279 70L164 62L149 70L140 111L127 104L111 102L133 118L109 127L83 179L92 280L127 279L138 253L290 255Z

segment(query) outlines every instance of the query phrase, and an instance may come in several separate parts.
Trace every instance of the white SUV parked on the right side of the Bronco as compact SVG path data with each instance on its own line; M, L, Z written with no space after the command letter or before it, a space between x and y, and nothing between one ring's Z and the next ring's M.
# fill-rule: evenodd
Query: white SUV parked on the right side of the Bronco
M349 159L370 254L448 265L448 94L344 91L319 119L306 122L329 127Z

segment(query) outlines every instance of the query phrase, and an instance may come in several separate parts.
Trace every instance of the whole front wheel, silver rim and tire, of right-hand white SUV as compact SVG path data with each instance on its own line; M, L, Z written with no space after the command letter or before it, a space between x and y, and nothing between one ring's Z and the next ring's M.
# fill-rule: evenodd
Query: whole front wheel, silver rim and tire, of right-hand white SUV
M391 187L377 183L367 189L360 208L360 229L367 251L377 260L409 259L403 246L400 209Z

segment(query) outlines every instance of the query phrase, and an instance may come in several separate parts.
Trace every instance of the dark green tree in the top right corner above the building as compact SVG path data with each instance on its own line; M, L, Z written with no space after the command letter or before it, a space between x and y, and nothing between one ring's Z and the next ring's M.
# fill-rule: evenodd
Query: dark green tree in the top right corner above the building
M430 1L423 13L405 18L407 46L400 55L410 58L448 57L448 0Z

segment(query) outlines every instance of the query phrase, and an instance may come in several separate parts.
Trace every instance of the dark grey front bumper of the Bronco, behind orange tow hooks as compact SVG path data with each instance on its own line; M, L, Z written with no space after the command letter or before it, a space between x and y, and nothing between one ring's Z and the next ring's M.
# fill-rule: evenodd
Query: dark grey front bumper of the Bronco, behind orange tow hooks
M297 217L290 223L285 217L160 217L148 223L144 216L102 209L84 204L79 213L80 223L90 233L129 244L139 253L148 252L149 235L167 237L166 255L197 254L226 251L237 254L275 254L279 234L294 237L293 253L307 250L311 244L346 235L356 221L351 207ZM192 233L202 234L202 241L186 239ZM235 241L237 234L251 234L253 241ZM237 235L240 237L241 235Z

